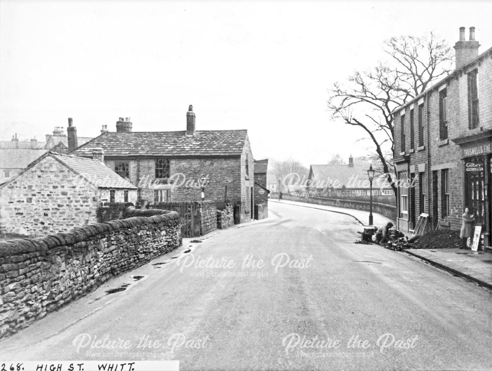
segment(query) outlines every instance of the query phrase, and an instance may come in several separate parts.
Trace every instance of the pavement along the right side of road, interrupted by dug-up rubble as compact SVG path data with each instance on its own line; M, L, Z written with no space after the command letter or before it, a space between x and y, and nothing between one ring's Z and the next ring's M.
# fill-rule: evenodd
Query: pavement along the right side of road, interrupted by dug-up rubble
M279 202L269 200L270 202ZM281 203L310 207L320 210L327 210L353 216L364 227L369 227L365 222L369 221L369 212L348 209L336 206L325 206L307 202L295 202L281 200ZM382 226L388 222L393 222L384 215L372 213L375 226ZM361 226L362 229L362 226ZM410 235L407 235L410 237ZM471 251L460 249L405 249L404 253L422 259L443 270L470 279L480 286L492 289L492 254L483 251Z

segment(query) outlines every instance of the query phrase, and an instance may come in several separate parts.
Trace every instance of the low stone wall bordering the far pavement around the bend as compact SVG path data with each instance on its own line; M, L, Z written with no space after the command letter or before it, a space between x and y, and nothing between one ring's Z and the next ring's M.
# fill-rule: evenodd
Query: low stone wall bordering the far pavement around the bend
M270 197L273 200L278 200L278 193L271 193ZM337 206L348 209L356 209L369 211L369 202L356 201L356 200L340 200L340 199L328 199L323 197L311 197L311 196L298 196L288 193L281 193L281 200L298 201L316 203L318 205ZM397 220L397 208L393 205L387 205L385 203L372 202L372 212L384 215L391 220Z

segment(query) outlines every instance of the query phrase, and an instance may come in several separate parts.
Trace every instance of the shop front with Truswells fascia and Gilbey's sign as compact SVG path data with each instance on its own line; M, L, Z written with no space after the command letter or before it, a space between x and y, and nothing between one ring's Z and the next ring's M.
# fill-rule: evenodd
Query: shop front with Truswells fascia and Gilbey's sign
M482 227L483 246L491 246L491 131L454 139L461 147L463 162L463 204Z

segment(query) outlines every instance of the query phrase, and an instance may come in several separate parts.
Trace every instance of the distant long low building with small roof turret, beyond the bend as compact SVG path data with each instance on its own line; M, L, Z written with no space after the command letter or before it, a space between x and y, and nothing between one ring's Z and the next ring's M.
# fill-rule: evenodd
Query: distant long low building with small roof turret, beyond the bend
M354 164L352 156L348 165L311 165L307 192L313 196L330 198L364 198L369 196L370 183L367 170L370 164ZM372 181L373 196L394 196L393 189L383 174Z

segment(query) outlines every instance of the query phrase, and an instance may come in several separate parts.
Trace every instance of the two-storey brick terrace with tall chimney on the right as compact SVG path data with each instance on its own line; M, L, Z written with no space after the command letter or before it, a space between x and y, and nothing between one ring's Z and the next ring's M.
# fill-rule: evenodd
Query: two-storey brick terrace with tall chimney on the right
M465 207L491 244L492 48L478 54L475 29L460 28L456 69L397 108L394 163L399 187L398 228L412 231L419 214L429 228L461 228Z

